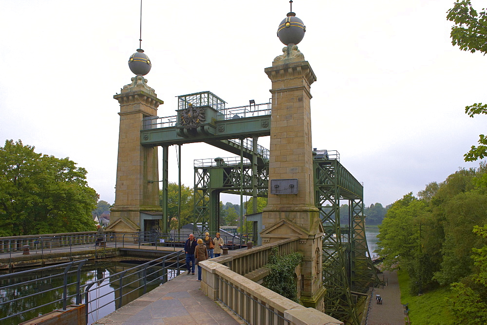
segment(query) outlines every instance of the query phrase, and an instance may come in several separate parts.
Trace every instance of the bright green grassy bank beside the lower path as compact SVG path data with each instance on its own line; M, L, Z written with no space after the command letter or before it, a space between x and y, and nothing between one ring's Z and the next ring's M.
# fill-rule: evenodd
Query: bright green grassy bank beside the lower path
M401 303L409 303L409 319L412 324L455 324L453 315L445 302L445 298L451 294L449 288L439 288L421 296L412 296L409 293L408 272L400 270L397 272L397 277L401 289Z

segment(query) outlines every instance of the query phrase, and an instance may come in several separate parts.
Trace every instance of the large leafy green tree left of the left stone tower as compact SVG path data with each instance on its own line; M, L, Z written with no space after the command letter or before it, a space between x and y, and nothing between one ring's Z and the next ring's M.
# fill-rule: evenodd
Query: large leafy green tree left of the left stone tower
M94 230L98 195L86 170L34 149L20 140L0 147L0 236Z

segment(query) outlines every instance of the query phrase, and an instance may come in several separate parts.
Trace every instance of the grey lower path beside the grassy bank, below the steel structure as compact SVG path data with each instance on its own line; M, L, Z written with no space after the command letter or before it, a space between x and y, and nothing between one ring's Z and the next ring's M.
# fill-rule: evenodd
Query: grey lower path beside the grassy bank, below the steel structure
M369 325L404 325L404 307L401 304L401 290L397 281L397 271L384 271L388 278L388 285L375 288L372 294L371 311L367 324ZM377 305L375 295L380 294L382 305Z

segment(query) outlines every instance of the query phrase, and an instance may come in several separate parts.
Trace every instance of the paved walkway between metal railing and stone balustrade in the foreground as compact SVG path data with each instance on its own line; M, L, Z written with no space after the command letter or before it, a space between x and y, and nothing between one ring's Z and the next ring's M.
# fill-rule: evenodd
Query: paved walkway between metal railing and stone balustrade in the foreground
M93 324L244 324L200 289L198 275L178 275Z

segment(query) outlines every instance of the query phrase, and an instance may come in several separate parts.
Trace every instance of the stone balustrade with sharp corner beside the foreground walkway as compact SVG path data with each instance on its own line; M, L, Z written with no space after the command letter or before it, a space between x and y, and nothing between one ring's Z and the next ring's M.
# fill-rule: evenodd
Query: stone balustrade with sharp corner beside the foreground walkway
M293 237L203 261L200 263L203 269L201 289L212 300L221 302L249 324L343 324L244 276L262 268L274 247L278 248L280 254L289 254L298 251L298 242L299 238Z

